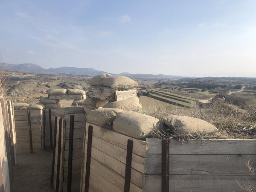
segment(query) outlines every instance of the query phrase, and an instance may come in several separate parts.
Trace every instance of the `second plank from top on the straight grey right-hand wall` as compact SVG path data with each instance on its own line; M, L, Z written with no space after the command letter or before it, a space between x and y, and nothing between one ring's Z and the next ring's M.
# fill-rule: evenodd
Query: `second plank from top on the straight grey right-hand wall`
M172 154L170 175L250 175L246 162L256 166L256 155ZM148 154L147 174L161 175L161 155Z

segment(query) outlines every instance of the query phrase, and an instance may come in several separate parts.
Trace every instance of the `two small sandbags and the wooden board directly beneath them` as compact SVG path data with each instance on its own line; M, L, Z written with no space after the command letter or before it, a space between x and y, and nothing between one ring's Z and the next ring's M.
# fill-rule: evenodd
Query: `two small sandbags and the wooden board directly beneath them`
M48 99L85 99L84 90L80 89L50 89L48 90Z

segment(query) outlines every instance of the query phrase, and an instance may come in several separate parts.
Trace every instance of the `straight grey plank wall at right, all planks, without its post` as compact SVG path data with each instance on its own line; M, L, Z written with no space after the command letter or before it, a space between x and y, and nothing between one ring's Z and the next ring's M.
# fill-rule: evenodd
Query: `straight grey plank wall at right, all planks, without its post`
M146 191L161 191L162 141L146 141ZM243 191L238 181L256 186L246 166L248 159L256 166L256 140L171 140L169 158L170 192Z

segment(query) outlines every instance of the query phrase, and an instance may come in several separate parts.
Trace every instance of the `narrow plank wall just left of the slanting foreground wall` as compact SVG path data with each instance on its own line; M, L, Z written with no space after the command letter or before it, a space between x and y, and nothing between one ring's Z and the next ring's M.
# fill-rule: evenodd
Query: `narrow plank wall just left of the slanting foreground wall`
M74 107L75 108L75 107ZM57 113L58 114L58 113ZM56 191L67 191L70 116L74 116L73 157L72 157L72 192L79 192L81 180L82 150L84 145L85 116L84 112L58 116L54 156L53 187ZM62 118L61 118L62 117ZM71 158L71 157L70 157Z

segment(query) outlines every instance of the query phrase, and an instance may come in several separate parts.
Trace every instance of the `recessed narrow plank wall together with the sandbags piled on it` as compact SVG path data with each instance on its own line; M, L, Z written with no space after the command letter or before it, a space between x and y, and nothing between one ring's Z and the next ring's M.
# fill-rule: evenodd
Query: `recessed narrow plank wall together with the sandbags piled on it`
M49 109L51 110L51 125L52 125L52 138L54 136L54 125L55 125L55 112L57 108L61 108L59 99L48 99L48 97L40 97L40 103L45 106L44 113L44 128L45 128L45 148L50 149L50 120L49 120ZM53 140L52 140L53 141Z

